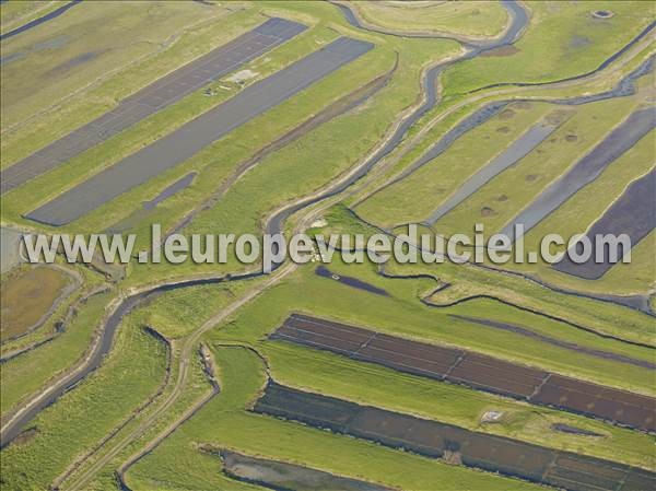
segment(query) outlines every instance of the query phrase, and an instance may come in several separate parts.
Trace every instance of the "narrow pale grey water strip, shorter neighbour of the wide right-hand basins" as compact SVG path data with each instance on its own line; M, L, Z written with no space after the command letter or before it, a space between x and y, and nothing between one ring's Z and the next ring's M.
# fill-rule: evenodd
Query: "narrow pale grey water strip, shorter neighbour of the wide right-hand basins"
M479 172L458 188L440 208L437 208L426 220L427 225L433 225L437 220L456 208L481 187L483 187L494 176L501 174L511 165L524 159L537 145L547 139L557 128L558 124L543 120L532 126L527 132L515 140L501 155L492 159Z

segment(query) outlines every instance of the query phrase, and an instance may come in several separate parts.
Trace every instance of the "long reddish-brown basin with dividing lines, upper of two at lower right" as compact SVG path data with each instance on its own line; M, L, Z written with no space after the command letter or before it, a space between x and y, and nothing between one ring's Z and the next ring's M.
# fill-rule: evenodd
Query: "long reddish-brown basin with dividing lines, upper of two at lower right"
M269 338L643 431L656 431L656 399L492 356L300 314L290 316Z

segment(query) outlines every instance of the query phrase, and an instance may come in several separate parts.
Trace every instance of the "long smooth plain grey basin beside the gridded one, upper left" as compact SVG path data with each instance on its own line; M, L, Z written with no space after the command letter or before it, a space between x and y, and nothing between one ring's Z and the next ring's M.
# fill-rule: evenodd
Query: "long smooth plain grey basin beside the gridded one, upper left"
M27 218L54 226L70 223L175 167L235 128L307 89L373 47L367 42L340 37L247 86L218 107L28 213Z

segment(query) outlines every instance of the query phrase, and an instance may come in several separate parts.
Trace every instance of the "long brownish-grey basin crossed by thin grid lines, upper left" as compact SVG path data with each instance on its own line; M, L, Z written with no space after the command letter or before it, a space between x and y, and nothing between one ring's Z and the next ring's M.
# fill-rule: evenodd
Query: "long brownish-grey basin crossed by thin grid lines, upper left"
M1 173L0 194L39 176L102 143L133 124L179 101L263 52L291 39L305 26L270 19L122 101L116 108L40 149Z

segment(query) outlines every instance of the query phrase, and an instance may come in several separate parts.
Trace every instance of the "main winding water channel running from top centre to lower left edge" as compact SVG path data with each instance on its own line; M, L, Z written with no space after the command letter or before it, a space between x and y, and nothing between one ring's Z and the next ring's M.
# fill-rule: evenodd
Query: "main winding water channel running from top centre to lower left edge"
M347 179L333 186L327 187L318 196L301 200L274 213L267 222L265 231L270 234L281 233L283 230L283 224L289 217L318 201L323 201L327 198L333 197L342 192L352 184L364 177L380 160L383 160L393 150L395 150L401 143L408 130L424 114L426 114L426 112L432 109L437 104L438 98L436 81L437 78L444 72L444 70L457 62L473 58L485 50L509 45L517 40L517 38L520 36L520 34L524 32L528 24L528 14L524 10L524 8L515 1L503 1L502 4L508 11L508 14L511 16L511 25L501 39L490 40L489 43L483 45L467 45L466 47L468 48L468 50L461 57L438 63L435 67L427 70L422 80L422 87L425 92L424 102L412 114L410 114L410 116L403 119L403 121L398 126L398 128L394 131L393 136L387 140L387 142L383 147L380 147L362 166L360 166L356 169L356 172L350 175ZM347 13L348 9L344 9L343 5L339 5L339 8L344 13L347 20L351 24L353 24L355 27L362 28L358 24L358 21L354 16L349 16L349 14ZM646 35L646 32L643 32L641 34L641 36L644 35ZM620 94L618 92L617 95L624 94ZM39 396L34 398L31 401L31 404L21 408L21 410L13 414L13 417L2 429L2 434L0 435L0 445L3 447L7 444L9 444L21 433L22 429L25 428L25 425L30 423L43 409L54 404L60 396L66 394L68 390L74 388L74 386L79 384L84 377L86 377L86 375L89 375L98 366L101 366L105 355L107 355L112 350L115 334L122 318L130 312L132 312L136 307L142 305L149 299L152 299L153 296L160 293L172 290L191 288L202 284L244 281L260 276L262 276L262 273L260 271L257 271L247 272L243 274L235 274L227 278L222 277L183 280L152 287L149 290L134 293L130 296L126 296L117 304L117 306L107 317L105 323L98 329L98 337L94 346L91 348L90 355L85 359L83 364L74 369L71 373L66 375L59 382L46 388Z

